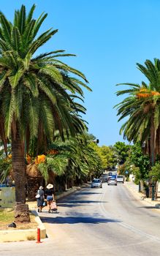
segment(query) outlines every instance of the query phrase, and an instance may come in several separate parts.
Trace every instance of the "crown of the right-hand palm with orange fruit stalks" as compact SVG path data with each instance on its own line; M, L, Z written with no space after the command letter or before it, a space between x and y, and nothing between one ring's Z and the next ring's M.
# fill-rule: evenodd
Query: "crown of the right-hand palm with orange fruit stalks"
M124 83L129 89L118 91L117 95L128 94L118 109L118 121L129 117L121 127L123 137L129 141L146 141L146 150L154 164L156 154L160 154L160 61L154 59L154 64L147 60L145 66L137 64L138 69L148 78L149 83Z

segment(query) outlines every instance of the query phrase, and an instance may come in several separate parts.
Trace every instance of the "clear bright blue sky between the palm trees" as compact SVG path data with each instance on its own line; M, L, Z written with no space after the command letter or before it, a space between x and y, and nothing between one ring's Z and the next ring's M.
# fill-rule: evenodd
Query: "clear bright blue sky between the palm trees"
M48 13L42 30L58 29L42 52L64 49L77 55L65 61L85 73L93 90L84 90L89 132L99 138L100 146L123 141L123 122L118 123L113 110L122 99L115 96L115 84L140 83L144 78L136 63L160 58L160 1L4 0L0 10L12 20L21 4L27 10L37 4L36 18Z

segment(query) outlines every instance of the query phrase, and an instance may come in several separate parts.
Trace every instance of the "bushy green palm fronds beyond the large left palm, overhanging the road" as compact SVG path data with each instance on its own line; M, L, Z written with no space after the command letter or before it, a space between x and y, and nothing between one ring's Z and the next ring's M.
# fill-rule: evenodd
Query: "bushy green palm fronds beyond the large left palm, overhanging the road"
M54 154L56 148L58 154ZM102 170L102 162L93 148L86 142L84 135L70 138L65 142L58 139L50 146L45 162L37 168L48 182L50 173L65 176L74 183L76 179L86 181L91 174L98 175ZM66 182L67 183L67 182Z

